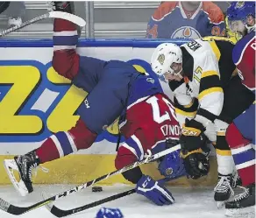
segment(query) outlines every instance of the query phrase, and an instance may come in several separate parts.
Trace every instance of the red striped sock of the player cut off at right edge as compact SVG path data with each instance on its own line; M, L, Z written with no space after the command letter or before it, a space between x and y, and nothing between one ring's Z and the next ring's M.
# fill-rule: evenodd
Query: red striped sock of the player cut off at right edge
M231 153L243 186L255 183L255 151L252 144L242 136L234 123L231 123L227 130L226 140L231 147Z

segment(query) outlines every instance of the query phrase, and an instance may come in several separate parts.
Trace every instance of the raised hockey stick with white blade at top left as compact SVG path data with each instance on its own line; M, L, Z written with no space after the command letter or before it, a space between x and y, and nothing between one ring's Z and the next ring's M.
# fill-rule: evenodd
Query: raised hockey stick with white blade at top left
M26 21L25 23L22 23L19 26L13 26L7 30L4 30L2 32L0 32L0 37L3 37L11 32L15 32L19 29L24 28L27 25L32 25L42 19L46 19L46 18L60 18L60 19L66 19L68 21L71 21L72 23L74 23L75 25L79 25L79 26L85 26L86 22L84 19L74 15L74 14L69 14L67 12L62 12L62 11L50 11L46 14L40 15L37 18L32 18L31 20Z

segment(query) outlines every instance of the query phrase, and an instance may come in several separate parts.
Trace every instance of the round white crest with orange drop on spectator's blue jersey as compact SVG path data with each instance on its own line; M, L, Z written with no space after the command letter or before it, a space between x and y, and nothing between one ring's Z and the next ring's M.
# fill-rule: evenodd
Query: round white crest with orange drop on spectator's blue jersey
M191 26L181 26L171 36L171 39L198 39L201 35Z

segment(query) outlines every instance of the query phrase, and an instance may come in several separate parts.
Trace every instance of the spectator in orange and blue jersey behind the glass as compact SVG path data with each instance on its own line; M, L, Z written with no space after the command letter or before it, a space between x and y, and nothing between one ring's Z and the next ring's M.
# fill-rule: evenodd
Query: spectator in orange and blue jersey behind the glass
M150 19L148 39L198 39L224 36L224 14L211 2L163 2Z

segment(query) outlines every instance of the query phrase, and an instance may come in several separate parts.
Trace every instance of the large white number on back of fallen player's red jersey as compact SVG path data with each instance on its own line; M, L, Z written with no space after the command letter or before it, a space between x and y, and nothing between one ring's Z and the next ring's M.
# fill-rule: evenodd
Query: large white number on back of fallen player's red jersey
M168 102L167 99L162 98L162 100L167 104L168 109L170 110L172 116L175 120L177 120L177 117L174 112L174 106L171 104L171 102ZM166 111L164 115L160 115L160 107L158 104L159 99L156 96L152 96L151 98L147 99L146 102L151 104L153 109L153 121L156 123L163 123L166 120L171 120L171 117L169 116L169 113Z

